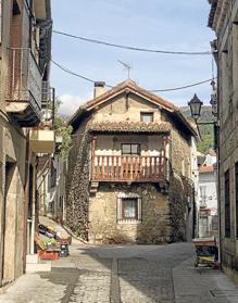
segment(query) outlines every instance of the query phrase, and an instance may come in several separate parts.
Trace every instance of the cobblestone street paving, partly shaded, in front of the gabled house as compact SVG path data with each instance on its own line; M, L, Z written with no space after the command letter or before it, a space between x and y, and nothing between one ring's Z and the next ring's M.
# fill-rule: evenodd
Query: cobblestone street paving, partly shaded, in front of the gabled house
M1 290L1 303L235 303L238 288L224 274L193 267L193 247L83 245Z

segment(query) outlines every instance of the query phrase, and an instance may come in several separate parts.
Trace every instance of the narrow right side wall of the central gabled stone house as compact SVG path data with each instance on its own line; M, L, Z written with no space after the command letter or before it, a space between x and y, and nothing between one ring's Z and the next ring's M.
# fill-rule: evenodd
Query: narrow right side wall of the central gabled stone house
M191 155L186 138L173 129L171 135L171 175L168 187L172 240L192 237L193 185L190 179ZM190 204L188 204L188 202Z

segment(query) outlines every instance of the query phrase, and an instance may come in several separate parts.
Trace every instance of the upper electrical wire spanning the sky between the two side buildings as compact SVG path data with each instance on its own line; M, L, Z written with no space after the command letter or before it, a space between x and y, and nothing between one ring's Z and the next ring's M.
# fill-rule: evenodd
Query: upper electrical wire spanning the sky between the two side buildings
M91 38L86 38L82 36L76 36L67 33L63 33L60 30L52 30L54 34L66 36L70 38L78 39L82 41L90 42L90 43L97 43L97 45L103 45L107 47L113 47L113 48L120 48L120 49L126 49L131 51L141 51L141 52L151 52L151 53L161 53L161 54L181 54L181 55L211 55L212 53L210 51L199 51L199 52L189 52L189 51L167 51L167 50L153 50L153 49L147 49L147 48L138 48L133 46L124 46L124 45L117 45L117 43L110 43L102 40L96 40Z

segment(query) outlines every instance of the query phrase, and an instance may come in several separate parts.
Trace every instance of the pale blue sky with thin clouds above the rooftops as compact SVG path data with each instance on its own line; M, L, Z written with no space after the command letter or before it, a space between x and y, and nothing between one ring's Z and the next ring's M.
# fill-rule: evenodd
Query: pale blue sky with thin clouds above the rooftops
M206 26L206 0L52 0L53 29L112 43L175 51L206 51L214 39ZM152 90L179 87L211 78L211 56L165 55L109 48L53 34L55 62L89 77L117 85L127 73L117 60L131 65L130 77ZM93 84L65 74L52 64L51 85L63 101L61 112L73 114L92 97ZM210 84L161 92L186 105L197 92L209 103Z

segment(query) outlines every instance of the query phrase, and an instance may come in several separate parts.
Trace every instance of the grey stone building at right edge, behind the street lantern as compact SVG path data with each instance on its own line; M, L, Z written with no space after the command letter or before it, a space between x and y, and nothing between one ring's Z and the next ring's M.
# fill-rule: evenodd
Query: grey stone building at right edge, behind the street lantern
M209 26L217 37L218 213L221 262L238 281L238 1L209 0Z

